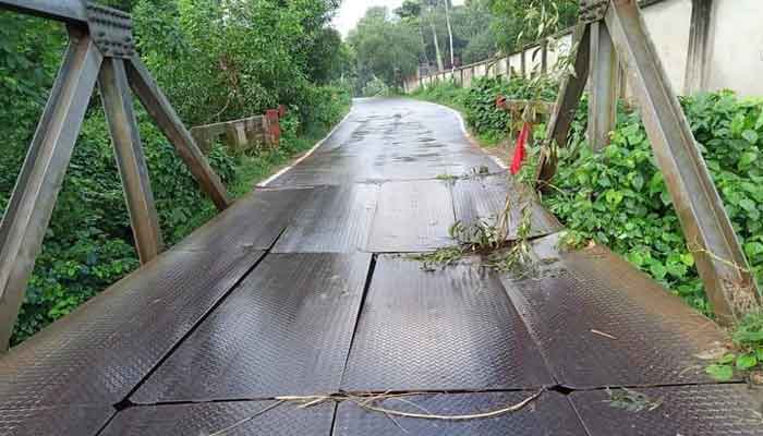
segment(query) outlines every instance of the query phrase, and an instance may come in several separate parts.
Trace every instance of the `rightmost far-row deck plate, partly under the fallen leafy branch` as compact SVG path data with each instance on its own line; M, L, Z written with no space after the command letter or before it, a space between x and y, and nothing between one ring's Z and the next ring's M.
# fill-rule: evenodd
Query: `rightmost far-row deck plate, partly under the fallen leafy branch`
M507 199L510 201L508 239L518 238L525 207L530 208L530 234L541 237L561 230L559 221L538 202L535 193L511 182L507 174L475 177L457 180L452 185L456 220L470 226L480 220L496 225L504 213Z

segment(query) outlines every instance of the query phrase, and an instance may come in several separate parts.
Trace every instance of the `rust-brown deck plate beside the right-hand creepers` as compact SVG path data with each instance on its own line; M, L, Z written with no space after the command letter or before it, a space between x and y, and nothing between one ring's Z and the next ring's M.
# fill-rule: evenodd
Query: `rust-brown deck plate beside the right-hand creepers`
M564 254L544 268L540 277L502 281L560 384L712 382L706 362L695 355L725 337L626 261L594 247Z

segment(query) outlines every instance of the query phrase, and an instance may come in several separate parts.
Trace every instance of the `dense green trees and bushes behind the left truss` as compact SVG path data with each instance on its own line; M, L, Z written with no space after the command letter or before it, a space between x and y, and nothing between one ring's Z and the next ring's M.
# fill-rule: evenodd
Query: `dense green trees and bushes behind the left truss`
M336 123L349 107L338 81L349 55L328 27L335 0L112 0L132 10L138 49L186 125L290 108L281 147L208 156L229 190L253 181ZM15 184L65 48L52 22L0 13L0 206ZM172 245L215 214L171 145L136 102L161 230ZM138 265L111 140L96 95L89 105L37 258L13 343L68 314Z

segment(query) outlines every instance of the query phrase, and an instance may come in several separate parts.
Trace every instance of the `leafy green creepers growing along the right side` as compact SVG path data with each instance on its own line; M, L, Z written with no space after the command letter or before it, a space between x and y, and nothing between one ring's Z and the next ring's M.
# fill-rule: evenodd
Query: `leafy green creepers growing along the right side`
M419 97L461 109L479 135L505 131L509 120L495 97L526 97L526 82L480 80L472 89L451 83L421 90ZM543 90L553 96L553 87ZM682 98L734 228L759 283L763 284L763 101L740 100L730 92ZM568 229L566 241L606 244L666 284L689 304L711 314L694 267L695 244L686 241L638 112L620 106L611 144L593 153L585 142L586 102L582 101L559 168L544 204ZM543 136L543 126L536 136ZM521 177L534 174L537 146Z

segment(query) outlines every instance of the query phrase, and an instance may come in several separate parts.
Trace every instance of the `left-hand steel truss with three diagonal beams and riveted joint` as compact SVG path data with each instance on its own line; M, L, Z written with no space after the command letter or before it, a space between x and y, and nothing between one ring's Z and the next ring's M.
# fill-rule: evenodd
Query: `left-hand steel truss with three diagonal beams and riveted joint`
M69 23L70 44L0 223L0 353L13 332L96 83L142 263L156 257L162 242L131 87L217 208L230 204L222 182L148 70L132 53L129 15L82 0L0 0L2 9Z

